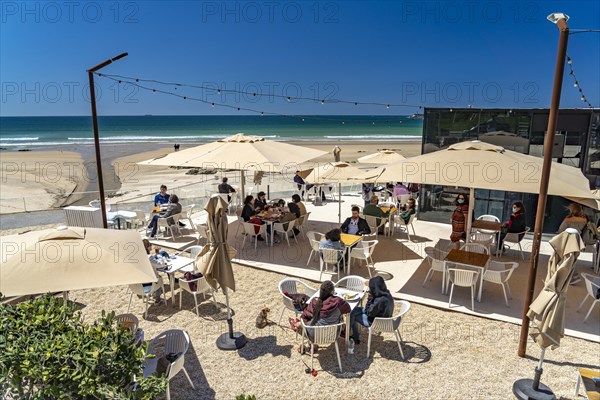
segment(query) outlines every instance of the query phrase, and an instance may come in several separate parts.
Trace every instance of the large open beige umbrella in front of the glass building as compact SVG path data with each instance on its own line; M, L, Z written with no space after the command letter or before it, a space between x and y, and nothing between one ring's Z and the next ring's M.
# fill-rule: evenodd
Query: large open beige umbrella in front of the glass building
M543 158L506 150L479 140L456 143L447 149L407 158L361 174L360 179L401 181L470 189L468 227L475 189L538 193ZM589 181L574 167L552 163L549 195L594 198Z

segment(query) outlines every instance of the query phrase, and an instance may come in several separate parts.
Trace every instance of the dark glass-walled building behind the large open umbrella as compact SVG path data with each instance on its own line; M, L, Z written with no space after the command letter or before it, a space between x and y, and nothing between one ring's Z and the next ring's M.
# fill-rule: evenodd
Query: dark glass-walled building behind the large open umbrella
M457 109L426 108L423 121L422 153L447 148L466 141L481 140L506 149L543 157L548 109ZM600 188L600 110L561 109L553 148L553 160L580 168L590 181L590 189ZM460 187L423 185L420 190L419 219L449 223ZM527 225L533 230L537 194L500 190L475 190L475 217L492 214L506 221L514 201L527 210ZM566 216L571 201L548 196L544 233L555 233ZM585 208L594 222L596 210Z

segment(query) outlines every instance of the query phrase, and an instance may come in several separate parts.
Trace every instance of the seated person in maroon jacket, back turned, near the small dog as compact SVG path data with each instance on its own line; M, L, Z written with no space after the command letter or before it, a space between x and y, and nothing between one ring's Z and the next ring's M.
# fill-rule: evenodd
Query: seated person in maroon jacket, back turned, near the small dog
M350 304L341 297L334 296L335 286L331 281L325 281L319 288L319 297L315 297L302 311L300 318L307 326L334 325L342 321L342 315L350 312ZM290 326L294 331L302 327L299 319L290 318ZM307 335L312 337L308 330Z

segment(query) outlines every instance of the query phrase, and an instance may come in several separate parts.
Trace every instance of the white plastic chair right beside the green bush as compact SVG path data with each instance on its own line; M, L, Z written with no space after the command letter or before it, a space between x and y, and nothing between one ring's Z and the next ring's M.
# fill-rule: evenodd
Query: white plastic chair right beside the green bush
M166 378L167 378L167 400L171 400L171 388L170 381L171 379L179 373L179 371L183 370L188 382L192 386L193 390L196 390L194 383L190 379L190 375L185 369L185 354L187 353L190 347L190 336L188 333L181 329L171 329L165 331L152 339L150 341L150 345L148 346L147 354L155 354L156 349L158 347L159 342L164 341L164 347L162 351L162 356L166 356L169 354L176 354L177 358L171 361L167 367ZM156 365L158 362L159 355L154 358L146 359L146 367L144 368L144 377L149 376L156 370Z

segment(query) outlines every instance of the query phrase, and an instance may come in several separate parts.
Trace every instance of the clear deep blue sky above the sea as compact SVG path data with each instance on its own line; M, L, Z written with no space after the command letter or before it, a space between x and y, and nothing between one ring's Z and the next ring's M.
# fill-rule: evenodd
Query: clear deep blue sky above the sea
M600 29L600 2L91 1L1 2L0 115L89 115L86 69L106 74L318 99L431 107L545 108L562 11ZM600 33L569 55L600 105ZM567 69L568 71L568 69ZM101 115L238 114L97 78ZM148 87L282 114L411 114L355 106ZM562 107L585 107L565 76Z

